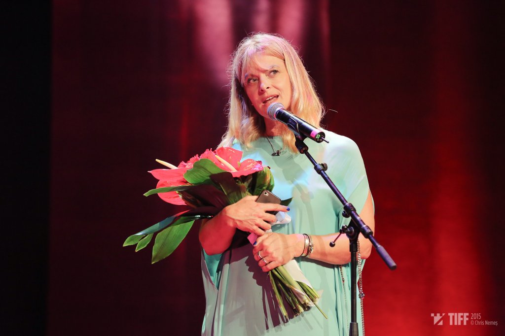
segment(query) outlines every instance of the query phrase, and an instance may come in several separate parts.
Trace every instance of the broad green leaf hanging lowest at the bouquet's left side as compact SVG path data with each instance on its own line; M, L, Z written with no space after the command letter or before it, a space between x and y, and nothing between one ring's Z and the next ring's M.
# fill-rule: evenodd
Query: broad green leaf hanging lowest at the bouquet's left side
M181 220L180 218L179 220ZM151 263L158 262L168 257L179 246L193 226L194 220L188 222L174 222L173 225L166 228L156 235L155 246L153 247L153 257Z

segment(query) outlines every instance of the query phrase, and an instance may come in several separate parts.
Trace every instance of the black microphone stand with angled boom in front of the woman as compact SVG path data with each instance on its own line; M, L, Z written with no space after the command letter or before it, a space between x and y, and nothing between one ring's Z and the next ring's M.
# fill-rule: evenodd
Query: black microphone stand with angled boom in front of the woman
M375 247L377 250L377 253L380 255L382 260L386 263L386 265L389 267L389 269L394 270L396 269L396 263L391 259L387 251L382 247L377 241L375 240L373 236L372 230L365 224L363 219L358 215L356 212L355 207L347 202L345 197L340 193L340 191L337 189L335 184L331 181L329 178L328 174L326 174L326 170L328 169L328 165L326 163L317 163L316 160L312 157L312 155L309 153L309 147L304 143L304 139L306 138L305 136L299 136L298 134L295 134L295 145L298 151L301 154L305 154L307 158L312 162L314 165L314 169L316 172L321 175L323 180L328 184L330 189L333 191L335 196L337 196L338 200L342 203L343 205L343 212L342 215L345 218L351 219L349 222L348 226L343 226L342 229L340 229L340 235L345 233L347 237L349 238L349 250L350 250L350 266L351 266L351 277L350 277L350 282L351 282L351 318L350 318L350 323L349 323L349 336L358 336L358 322L357 322L357 308L356 308L356 287L357 287L357 277L356 277L356 271L358 268L358 262L357 262L357 252L358 252L358 236L360 232L363 234L365 238L370 240L372 242L372 245ZM335 241L340 237L340 235L335 238L333 242L330 243L331 247L335 246Z

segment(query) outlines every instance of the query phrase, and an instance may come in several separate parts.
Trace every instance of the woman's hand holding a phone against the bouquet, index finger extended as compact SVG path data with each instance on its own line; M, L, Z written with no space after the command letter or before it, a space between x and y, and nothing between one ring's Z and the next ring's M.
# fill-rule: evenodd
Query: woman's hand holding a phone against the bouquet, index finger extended
M270 230L271 223L277 221L275 215L267 211L287 212L287 207L273 203L258 203L258 196L245 196L238 202L228 205L219 214L225 225L238 230L263 236Z

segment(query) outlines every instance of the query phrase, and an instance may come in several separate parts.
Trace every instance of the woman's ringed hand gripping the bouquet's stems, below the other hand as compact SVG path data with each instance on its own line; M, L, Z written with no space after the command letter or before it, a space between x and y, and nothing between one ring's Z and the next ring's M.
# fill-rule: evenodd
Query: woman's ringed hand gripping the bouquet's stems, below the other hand
M294 257L298 257L304 250L303 235L284 235L269 232L256 240L252 249L254 258L264 272L284 265Z

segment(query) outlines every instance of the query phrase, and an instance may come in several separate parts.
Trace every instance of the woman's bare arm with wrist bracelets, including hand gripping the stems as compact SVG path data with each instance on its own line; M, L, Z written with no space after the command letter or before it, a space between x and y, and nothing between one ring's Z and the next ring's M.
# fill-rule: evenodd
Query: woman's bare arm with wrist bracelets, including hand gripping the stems
M374 208L372 195L368 192L365 206L360 212L360 217L372 231L375 230ZM310 233L307 233L310 234ZM335 239L337 233L325 236L312 236L314 251L309 256L311 259L321 260L330 264L346 264L350 261L349 239L346 235L341 235L335 243L335 247L329 244ZM372 243L362 234L359 236L361 257L366 259L372 251ZM276 233L267 233L257 240L258 244L252 250L255 259L264 271L269 271L277 266L287 263L294 257L298 257L304 250L305 239L301 234L282 235ZM268 262L259 258L258 252Z

